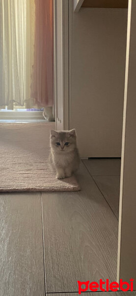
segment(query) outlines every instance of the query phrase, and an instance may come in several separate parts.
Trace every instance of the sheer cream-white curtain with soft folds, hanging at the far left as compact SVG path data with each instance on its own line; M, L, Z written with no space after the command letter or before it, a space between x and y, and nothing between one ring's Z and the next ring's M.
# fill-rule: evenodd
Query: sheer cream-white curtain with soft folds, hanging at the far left
M0 0L0 106L33 105L34 23L34 0Z

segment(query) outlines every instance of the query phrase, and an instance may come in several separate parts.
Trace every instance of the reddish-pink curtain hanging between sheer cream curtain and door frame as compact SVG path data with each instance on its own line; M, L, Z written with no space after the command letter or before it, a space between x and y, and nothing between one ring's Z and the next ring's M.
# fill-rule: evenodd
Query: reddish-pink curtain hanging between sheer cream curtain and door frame
M35 0L31 98L41 107L52 107L54 103L53 61L53 0Z

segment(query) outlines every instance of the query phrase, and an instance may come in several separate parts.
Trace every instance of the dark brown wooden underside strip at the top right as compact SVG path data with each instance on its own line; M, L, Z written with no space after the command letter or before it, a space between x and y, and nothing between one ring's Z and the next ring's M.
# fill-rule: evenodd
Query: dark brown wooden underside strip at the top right
M82 7L128 8L128 0L84 0Z

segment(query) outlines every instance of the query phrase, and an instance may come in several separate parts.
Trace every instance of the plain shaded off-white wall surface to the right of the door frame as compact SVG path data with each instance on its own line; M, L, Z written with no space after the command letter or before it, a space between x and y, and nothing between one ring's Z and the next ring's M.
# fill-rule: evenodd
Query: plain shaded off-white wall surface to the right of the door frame
M121 156L127 9L73 14L70 128L83 157Z

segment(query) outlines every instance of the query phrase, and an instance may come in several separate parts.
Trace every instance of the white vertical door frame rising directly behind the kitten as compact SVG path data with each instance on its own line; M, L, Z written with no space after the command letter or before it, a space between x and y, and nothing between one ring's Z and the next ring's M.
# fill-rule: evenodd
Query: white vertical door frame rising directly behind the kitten
M59 2L58 2L59 1ZM59 5L59 7L58 7ZM69 129L69 0L54 0L54 102L55 102L55 128L56 130ZM60 9L61 20L57 19L57 9ZM61 21L61 30L57 31L58 21ZM59 34L60 43L57 44ZM62 53L62 54L61 54ZM60 69L57 61L61 59ZM58 114L58 84L57 76L61 79L62 97L61 114Z

